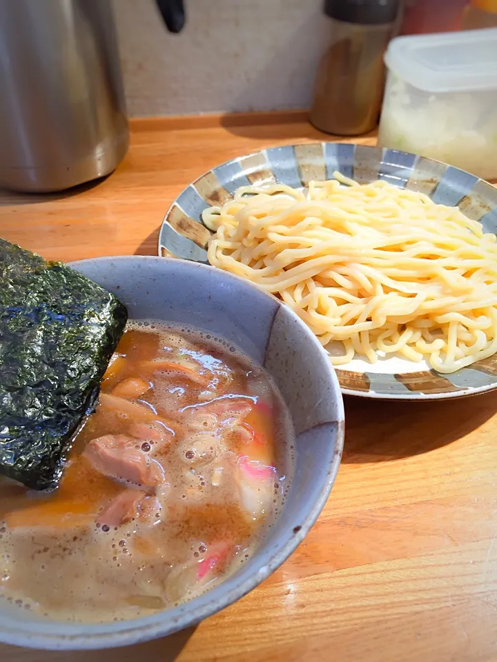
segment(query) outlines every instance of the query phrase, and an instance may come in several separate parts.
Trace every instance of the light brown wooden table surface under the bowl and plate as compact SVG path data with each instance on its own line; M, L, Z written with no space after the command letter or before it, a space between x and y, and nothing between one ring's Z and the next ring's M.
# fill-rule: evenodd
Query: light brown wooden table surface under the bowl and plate
M156 254L164 212L199 174L245 152L322 137L302 113L135 120L126 159L104 181L62 195L0 194L0 234L64 261ZM346 398L345 410L331 497L259 588L167 639L97 653L0 645L0 660L497 660L497 394Z

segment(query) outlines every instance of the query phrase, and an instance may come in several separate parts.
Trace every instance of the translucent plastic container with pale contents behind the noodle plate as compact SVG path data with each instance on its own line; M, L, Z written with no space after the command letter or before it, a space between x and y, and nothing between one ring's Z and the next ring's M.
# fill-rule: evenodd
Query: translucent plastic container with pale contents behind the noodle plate
M397 37L378 145L497 178L497 28Z

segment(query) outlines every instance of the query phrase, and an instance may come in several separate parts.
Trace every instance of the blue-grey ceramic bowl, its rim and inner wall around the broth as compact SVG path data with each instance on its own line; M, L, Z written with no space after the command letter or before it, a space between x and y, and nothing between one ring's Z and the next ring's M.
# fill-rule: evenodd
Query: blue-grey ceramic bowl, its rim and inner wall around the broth
M0 641L50 649L124 646L195 625L266 579L295 550L326 503L340 464L342 396L320 343L277 299L206 265L158 257L72 263L114 292L131 319L161 319L222 334L271 373L295 427L296 467L285 506L251 559L211 591L132 621L76 625L0 608Z

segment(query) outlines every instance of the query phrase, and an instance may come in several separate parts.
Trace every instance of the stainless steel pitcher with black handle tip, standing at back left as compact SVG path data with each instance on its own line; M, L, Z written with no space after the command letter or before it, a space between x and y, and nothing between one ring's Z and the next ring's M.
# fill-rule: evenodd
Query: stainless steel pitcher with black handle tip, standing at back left
M179 0L157 0L171 32ZM110 0L0 0L0 187L57 191L112 172L128 121Z

